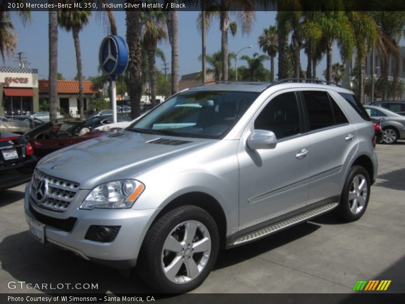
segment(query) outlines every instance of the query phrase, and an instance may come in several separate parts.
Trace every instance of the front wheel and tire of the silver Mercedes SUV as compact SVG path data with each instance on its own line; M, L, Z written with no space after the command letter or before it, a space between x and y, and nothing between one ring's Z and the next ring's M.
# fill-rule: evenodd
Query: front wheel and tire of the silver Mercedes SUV
M218 250L219 233L212 216L196 206L181 206L150 227L139 255L138 272L160 292L187 292L208 277Z

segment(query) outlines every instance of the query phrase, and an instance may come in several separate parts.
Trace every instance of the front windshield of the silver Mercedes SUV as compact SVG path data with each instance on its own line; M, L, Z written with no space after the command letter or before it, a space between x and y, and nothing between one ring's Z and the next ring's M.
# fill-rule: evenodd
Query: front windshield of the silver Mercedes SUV
M183 137L221 138L244 115L259 93L182 92L168 99L127 130Z

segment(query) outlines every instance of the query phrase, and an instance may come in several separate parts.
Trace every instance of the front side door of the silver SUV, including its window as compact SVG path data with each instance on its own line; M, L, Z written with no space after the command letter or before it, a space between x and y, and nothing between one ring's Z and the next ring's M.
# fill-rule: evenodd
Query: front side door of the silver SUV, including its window
M302 128L297 94L284 91L273 95L245 129L238 145L239 230L270 224L307 204L311 147ZM251 150L246 141L253 130L273 131L276 147Z

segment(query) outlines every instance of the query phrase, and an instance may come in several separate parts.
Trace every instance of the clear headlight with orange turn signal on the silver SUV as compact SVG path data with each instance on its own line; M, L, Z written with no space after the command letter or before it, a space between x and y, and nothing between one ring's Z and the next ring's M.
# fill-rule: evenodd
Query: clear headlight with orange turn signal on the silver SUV
M79 208L131 208L144 189L143 183L133 179L107 182L95 187Z

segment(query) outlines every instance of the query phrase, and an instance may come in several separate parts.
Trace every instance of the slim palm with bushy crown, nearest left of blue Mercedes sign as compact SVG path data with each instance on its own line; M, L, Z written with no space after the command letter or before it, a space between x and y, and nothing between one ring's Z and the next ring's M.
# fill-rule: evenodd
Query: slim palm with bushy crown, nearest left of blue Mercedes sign
M76 10L63 10L59 11L58 23L66 31L72 31L74 49L76 52L76 66L77 78L79 83L79 107L80 117L84 118L84 104L83 104L83 73L82 73L82 52L80 51L79 32L82 28L89 23L92 16L91 11L76 11Z

